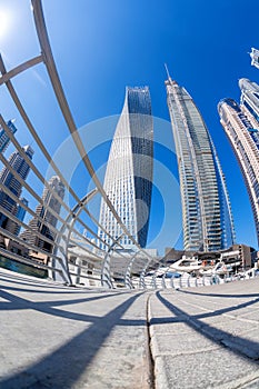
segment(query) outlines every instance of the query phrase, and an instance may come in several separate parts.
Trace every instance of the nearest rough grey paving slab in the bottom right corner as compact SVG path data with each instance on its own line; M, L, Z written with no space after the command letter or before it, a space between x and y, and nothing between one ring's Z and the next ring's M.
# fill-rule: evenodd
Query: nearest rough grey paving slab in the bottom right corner
M236 389L259 378L258 366L228 350L155 359L156 389Z

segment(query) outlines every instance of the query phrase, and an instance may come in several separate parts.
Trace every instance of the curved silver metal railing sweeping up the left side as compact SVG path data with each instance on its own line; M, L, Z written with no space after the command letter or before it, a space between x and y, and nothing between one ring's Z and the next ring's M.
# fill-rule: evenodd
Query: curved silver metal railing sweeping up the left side
M22 263L27 263L29 266L33 266L39 269L43 269L48 271L48 276L54 280L66 282L67 285L81 283L81 280L87 281L87 286L93 287L113 287L112 273L111 273L111 261L114 258L120 257L121 262L124 263L124 270L121 267L121 273L124 279L124 286L127 288L133 288L133 283L131 280L132 269L136 265L135 271L142 279L140 282L137 282L136 286L141 285L141 287L146 287L143 276L149 268L150 265L153 265L156 261L159 262L159 259L155 259L151 257L146 250L143 250L135 238L127 230L127 227L121 221L118 216L113 205L110 199L106 194L101 182L99 181L93 166L89 159L89 156L86 151L83 142L77 131L76 122L70 111L68 101L66 99L59 74L56 68L56 63L53 60L46 22L43 18L42 4L41 0L31 0L33 18L36 30L40 43L41 53L16 68L11 70L7 70L3 59L0 56L0 87L6 87L13 103L19 112L21 119L23 120L29 134L32 137L33 141L37 143L39 150L41 151L44 160L53 170L54 174L57 174L62 182L66 191L76 202L76 206L70 208L66 201L58 196L58 193L51 188L49 181L44 178L41 172L41 169L38 168L32 160L27 156L23 148L17 140L16 136L11 132L9 127L7 126L6 120L0 116L0 126L4 129L8 138L10 139L12 146L19 152L20 157L26 161L29 166L31 172L34 174L37 180L43 188L47 188L51 196L59 202L62 212L56 212L49 203L46 203L42 200L40 193L37 192L30 184L26 182L23 179L11 166L10 161L0 153L0 161L3 167L6 167L10 173L16 178L17 182L26 189L30 197L37 201L37 203L44 207L44 210L50 212L50 215L57 219L58 226L53 226L48 220L44 220L40 215L37 213L29 205L22 203L21 199L16 196L8 187L6 187L2 182L0 182L0 191L6 193L17 206L23 208L23 210L30 216L30 218L34 218L41 225L48 227L50 231L50 237L43 236L40 231L33 229L30 223L26 223L21 221L17 215L0 206L0 212L3 213L11 223L19 226L22 230L28 230L29 233L34 235L38 239L42 240L44 243L48 243L52 247L50 251L46 251L44 248L37 246L36 243L30 243L29 241L22 239L20 236L13 233L13 231L8 230L6 228L0 227L0 255L12 259L14 261L19 261ZM60 167L57 166L56 161L52 160L51 153L48 151L47 144L41 140L40 133L34 128L32 121L27 114L21 100L18 97L18 93L13 87L12 79L19 74L22 74L28 69L38 66L39 63L43 63L47 70L47 74L51 82L52 89L54 91L56 99L58 101L59 108L62 112L62 117L67 124L67 128L72 137L72 140L77 147L77 150L80 154L84 167L90 174L92 181L94 182L96 189L90 193L86 194L82 199L80 199L70 183L66 180L62 174ZM108 246L106 241L102 241L97 232L90 227L89 222L86 222L86 218L91 221L96 227L101 228L106 235L109 236L108 231L104 230L102 226L99 225L99 221L96 220L94 216L90 213L88 209L88 203L96 196L102 197L102 199L108 205L110 211L112 212L114 219L123 231L123 236L128 236L129 239L135 243L136 251L129 256L129 253L123 252L123 247L120 245L120 238L110 237L112 239L112 243ZM76 226L77 225L77 226ZM92 239L89 239L84 233L80 232L81 229L84 229L87 233L90 233ZM79 236L79 240L74 240L74 236ZM53 238L51 238L53 237ZM94 241L93 241L94 239ZM98 246L98 241L104 243L106 250L101 249ZM8 243L7 243L8 242ZM8 246L9 245L9 246ZM76 253L74 253L76 252ZM77 255L77 252L79 252ZM32 253L32 255L31 255ZM34 253L38 255L38 258L34 258ZM141 259L139 259L139 255ZM76 260L72 261L71 258L76 256ZM44 261L39 260L39 257L44 258ZM76 269L76 270L74 270ZM92 269L91 271L89 269Z

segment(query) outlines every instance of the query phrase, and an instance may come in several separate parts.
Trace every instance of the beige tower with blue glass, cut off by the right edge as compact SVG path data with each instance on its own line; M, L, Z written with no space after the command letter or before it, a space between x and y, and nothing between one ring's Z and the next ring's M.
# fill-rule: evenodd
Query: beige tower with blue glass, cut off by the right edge
M246 81L240 82L240 87L245 87L241 97L242 109L235 100L223 99L218 104L218 111L220 122L242 171L259 242L259 122L255 120L253 116L255 103L258 98L256 96L252 98L256 93L253 86L251 86L252 91L251 89L247 90L248 83ZM245 96L247 92L248 96ZM252 121L250 121L250 118L253 118Z

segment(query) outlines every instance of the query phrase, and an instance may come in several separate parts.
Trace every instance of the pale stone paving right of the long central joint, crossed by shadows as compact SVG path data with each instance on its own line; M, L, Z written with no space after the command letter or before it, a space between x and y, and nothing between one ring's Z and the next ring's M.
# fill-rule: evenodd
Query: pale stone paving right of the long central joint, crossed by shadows
M238 283L151 296L156 389L259 388L259 279Z

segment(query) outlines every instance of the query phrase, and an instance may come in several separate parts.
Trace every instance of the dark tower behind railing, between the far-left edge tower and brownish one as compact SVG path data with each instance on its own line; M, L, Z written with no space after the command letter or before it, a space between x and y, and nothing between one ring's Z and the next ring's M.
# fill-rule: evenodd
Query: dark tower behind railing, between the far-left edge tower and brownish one
M23 151L26 154L32 159L34 151L30 146L24 146ZM26 159L18 152L14 151L8 159L9 164L12 169L23 179L27 179L27 176L30 171L30 167L27 163ZM8 167L4 167L0 173L0 182L7 187L17 198L20 198L22 191L22 183L12 174ZM7 209L13 216L17 216L18 205L10 196L8 196L4 190L0 190L0 206ZM17 225L8 218L3 212L0 212L0 227L6 228L7 230L14 233L17 230Z

